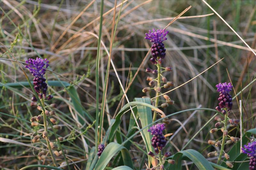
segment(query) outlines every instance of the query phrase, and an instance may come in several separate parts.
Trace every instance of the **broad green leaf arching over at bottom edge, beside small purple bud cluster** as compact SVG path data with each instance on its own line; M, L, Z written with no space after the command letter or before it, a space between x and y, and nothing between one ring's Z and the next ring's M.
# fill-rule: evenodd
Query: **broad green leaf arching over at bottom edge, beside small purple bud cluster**
M102 152L100 159L98 160L98 162L95 166L95 169L104 170L104 168L107 166L107 164L111 160L111 158L119 151L122 152L124 165L128 166L130 168L133 168L130 152L124 146L114 143L114 142L111 142L106 146L106 148Z

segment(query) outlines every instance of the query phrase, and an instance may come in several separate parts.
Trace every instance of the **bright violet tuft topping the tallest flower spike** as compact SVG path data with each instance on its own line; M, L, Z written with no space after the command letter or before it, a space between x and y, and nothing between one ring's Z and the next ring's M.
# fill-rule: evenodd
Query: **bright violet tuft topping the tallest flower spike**
M164 40L167 40L165 37L169 33L169 31L160 29L160 30L155 30L154 28L148 31L148 33L145 33L146 37L145 39L150 40L150 42L153 43L162 43Z

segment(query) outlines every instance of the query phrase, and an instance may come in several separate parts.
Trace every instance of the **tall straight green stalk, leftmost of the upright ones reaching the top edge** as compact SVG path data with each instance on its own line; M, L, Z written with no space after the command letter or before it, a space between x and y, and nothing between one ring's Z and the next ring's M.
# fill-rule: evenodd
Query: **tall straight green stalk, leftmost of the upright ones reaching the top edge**
M97 59L96 59L96 122L95 122L95 154L97 154L98 148L98 125L99 125L99 66L100 66L100 40L101 40L101 31L102 31L102 20L103 20L103 6L104 2L101 0L100 3L100 30L99 30L99 39L97 47Z

